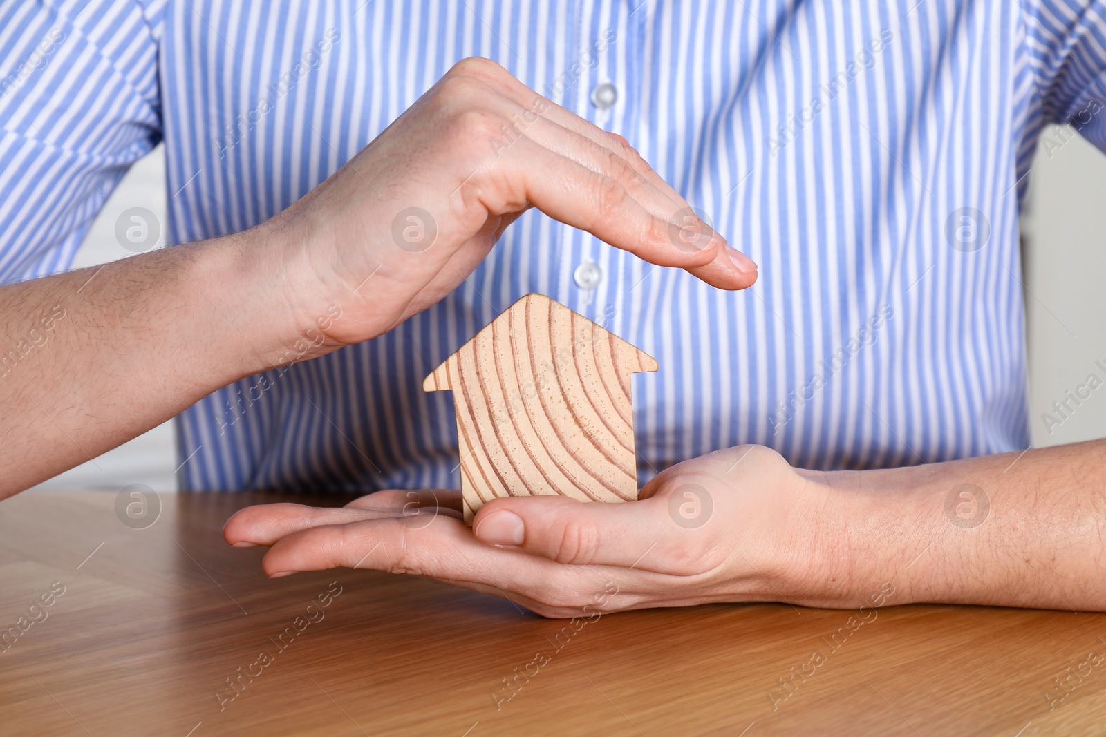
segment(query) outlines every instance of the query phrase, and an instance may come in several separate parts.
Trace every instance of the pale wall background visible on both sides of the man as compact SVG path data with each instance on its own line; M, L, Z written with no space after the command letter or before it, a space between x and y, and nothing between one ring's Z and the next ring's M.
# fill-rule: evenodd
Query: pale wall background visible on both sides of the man
M134 206L153 210L165 222L161 147L139 161L112 194L74 267L129 255L115 240L115 221ZM1106 157L1071 128L1045 130L1030 175L1023 240L1033 445L1106 436L1106 386L1078 406L1068 399L1071 411L1063 418L1052 409L1089 373L1106 381L1106 369L1095 365L1100 359L1106 366ZM1060 423L1045 422L1045 412ZM177 463L168 422L39 488L114 491L144 483L175 491Z

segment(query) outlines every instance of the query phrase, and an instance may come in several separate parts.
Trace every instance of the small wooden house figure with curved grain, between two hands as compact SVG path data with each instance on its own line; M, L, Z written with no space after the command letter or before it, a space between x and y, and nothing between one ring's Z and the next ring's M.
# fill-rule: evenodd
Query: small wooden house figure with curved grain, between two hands
M498 496L636 499L630 375L656 370L544 295L508 307L422 382L453 392L465 523Z

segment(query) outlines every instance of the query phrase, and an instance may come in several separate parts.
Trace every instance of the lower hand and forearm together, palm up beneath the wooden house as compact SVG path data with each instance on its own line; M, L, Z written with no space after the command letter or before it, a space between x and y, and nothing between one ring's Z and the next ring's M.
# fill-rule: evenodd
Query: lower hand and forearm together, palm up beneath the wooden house
M343 508L249 507L223 529L272 577L415 573L546 617L720 601L917 601L1106 610L1106 441L884 471L793 470L761 446L680 463L641 499L494 499L470 530L457 492Z

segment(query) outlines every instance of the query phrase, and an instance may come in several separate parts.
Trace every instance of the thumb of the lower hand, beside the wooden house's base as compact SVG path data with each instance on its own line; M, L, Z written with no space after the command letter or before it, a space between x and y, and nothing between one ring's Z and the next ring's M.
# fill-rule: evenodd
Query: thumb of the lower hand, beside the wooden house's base
M472 530L484 543L575 566L684 575L714 552L713 530L680 526L667 495L609 504L553 495L492 499L477 513Z

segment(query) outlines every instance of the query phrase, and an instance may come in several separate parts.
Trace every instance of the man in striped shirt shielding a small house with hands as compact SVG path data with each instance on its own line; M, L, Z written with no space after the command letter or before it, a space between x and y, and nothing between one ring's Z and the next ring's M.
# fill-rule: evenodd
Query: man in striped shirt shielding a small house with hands
M270 576L1106 609L1106 448L1025 450L1018 251L1041 126L1106 145L1103 3L0 8L6 494L181 413L186 489L393 489L237 514ZM181 245L48 275L158 140ZM420 381L529 292L658 359L644 501L470 530Z

